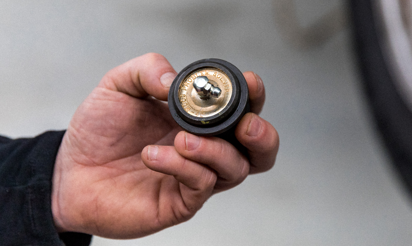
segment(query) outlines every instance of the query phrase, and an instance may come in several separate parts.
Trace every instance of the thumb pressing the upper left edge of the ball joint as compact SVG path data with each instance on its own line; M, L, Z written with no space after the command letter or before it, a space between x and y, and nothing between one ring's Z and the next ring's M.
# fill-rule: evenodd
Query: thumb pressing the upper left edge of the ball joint
M120 91L137 98L150 95L166 101L176 75L176 71L164 56L148 53L110 70L98 87Z

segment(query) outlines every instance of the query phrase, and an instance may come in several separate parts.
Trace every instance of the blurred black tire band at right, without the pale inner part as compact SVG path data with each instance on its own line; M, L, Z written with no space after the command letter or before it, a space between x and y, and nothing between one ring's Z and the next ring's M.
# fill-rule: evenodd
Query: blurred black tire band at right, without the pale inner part
M365 93L393 164L412 198L412 112L394 85L371 0L350 0L353 34Z

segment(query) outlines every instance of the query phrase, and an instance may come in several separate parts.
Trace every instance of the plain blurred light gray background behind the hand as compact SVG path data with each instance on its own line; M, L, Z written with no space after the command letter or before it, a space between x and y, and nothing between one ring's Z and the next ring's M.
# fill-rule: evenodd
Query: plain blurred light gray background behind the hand
M375 132L349 25L311 45L296 32L328 13L347 16L343 1L297 0L294 24L282 19L291 8L286 0L1 0L0 132L65 129L110 68L147 52L176 71L225 59L265 82L261 116L281 138L274 168L211 197L187 223L92 245L410 245L411 202Z

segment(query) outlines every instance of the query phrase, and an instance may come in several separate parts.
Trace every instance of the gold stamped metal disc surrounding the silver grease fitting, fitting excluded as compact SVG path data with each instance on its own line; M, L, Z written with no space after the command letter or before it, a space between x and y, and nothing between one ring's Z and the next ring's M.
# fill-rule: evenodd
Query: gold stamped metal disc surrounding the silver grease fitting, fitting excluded
M219 87L222 93L218 98L201 99L193 87L194 80L206 76L209 83ZM187 113L196 117L210 117L222 111L232 96L232 82L229 77L216 68L196 70L180 82L179 101Z

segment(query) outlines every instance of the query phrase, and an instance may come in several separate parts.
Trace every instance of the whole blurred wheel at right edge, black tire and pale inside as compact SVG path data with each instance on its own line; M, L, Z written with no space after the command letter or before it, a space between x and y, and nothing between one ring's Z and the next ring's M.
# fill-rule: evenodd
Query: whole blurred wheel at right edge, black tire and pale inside
M353 31L377 127L412 194L412 0L351 0Z

